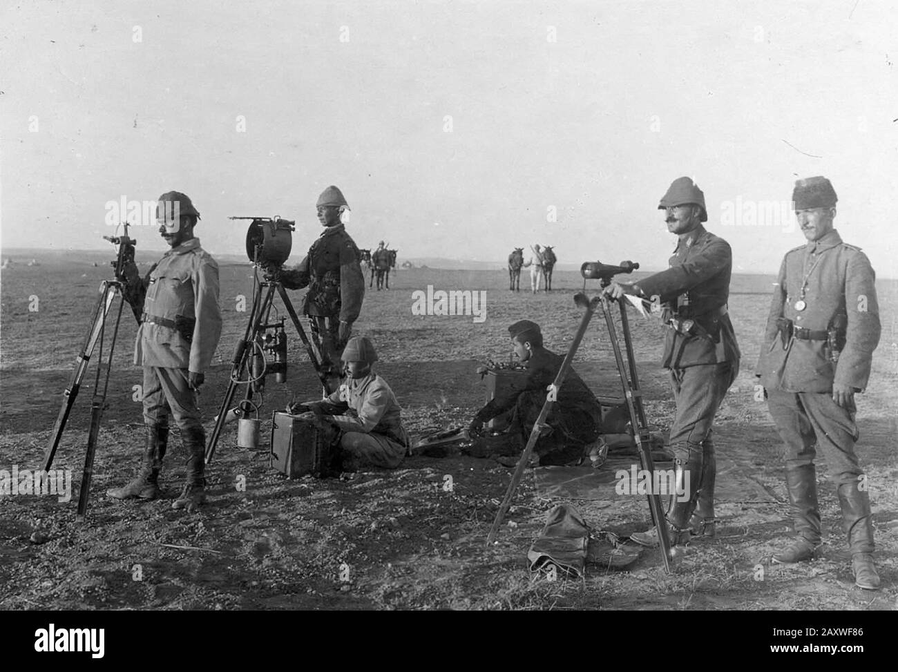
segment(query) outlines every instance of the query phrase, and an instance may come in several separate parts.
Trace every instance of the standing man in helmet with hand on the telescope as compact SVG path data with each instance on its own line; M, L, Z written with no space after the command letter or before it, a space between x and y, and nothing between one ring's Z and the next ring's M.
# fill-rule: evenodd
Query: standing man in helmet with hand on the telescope
M681 177L658 209L665 211L667 230L678 236L670 268L635 284L612 282L605 291L614 298L632 294L662 302L662 320L670 327L663 366L670 370L676 413L669 441L677 491L687 493L667 512L671 544L676 545L688 543L691 534L714 536L717 460L711 426L739 372L740 353L726 311L733 254L729 243L701 225L708 221L705 195ZM630 538L655 545L657 531Z

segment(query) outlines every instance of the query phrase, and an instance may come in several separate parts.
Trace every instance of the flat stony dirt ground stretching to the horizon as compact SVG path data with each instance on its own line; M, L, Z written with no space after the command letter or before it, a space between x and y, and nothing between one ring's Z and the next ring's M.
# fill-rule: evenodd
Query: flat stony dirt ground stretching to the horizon
M97 287L109 277L112 255L12 256L16 263L2 274L0 469L36 469L75 356L83 347ZM25 265L31 256L40 266ZM138 250L137 261L155 258ZM389 291L367 292L356 332L374 340L381 359L376 370L399 398L403 419L415 437L467 424L485 396L475 368L489 358L508 357L509 323L524 318L541 323L547 347L566 351L581 316L572 301L582 287L579 275L557 272L554 291L538 296L509 292L506 276L498 268L400 270L393 274ZM200 395L207 428L225 392L234 345L249 319L237 307L239 295L251 296L251 268L223 264L221 280L225 332ZM673 574L665 574L660 556L649 552L625 571L588 564L585 579L532 577L527 550L546 512L558 503L538 496L532 470L524 475L498 543L488 548L489 525L512 473L497 462L415 456L394 472L358 473L351 480L286 481L269 469L264 450L235 446L236 424L227 426L208 468L209 503L201 512L171 508L184 473L177 430L172 431L163 470L164 498L142 504L110 500L105 491L134 475L144 441L141 404L133 387L141 383L141 372L131 364L136 324L126 306L88 516L84 522L75 520L93 367L54 464L72 470L72 500L58 502L53 495L0 497L0 608L894 609L898 285L892 280L877 284L883 338L867 393L858 398L858 453L868 473L883 578L881 590L867 592L853 585L838 503L832 485L825 482L824 466L818 472L822 556L798 567L770 566L771 553L787 539L789 529L782 447L766 404L754 395L753 366L770 282L763 276L734 278L729 305L743 367L715 429L719 454L770 497L719 504L718 539L691 544L689 553L674 562ZM486 321L412 315L411 293L427 285L486 290ZM298 307L302 292L292 296ZM658 364L662 328L635 314L631 323L647 415L663 430L674 409ZM288 380L279 385L269 378L263 443L272 411L282 410L294 396L320 395L298 336L288 333ZM587 333L575 366L596 393L620 392L602 322L594 322ZM452 491L443 488L446 475L452 476ZM238 488L242 482L245 491ZM626 535L649 523L644 497L573 503L595 534L610 530ZM40 543L32 543L32 536Z

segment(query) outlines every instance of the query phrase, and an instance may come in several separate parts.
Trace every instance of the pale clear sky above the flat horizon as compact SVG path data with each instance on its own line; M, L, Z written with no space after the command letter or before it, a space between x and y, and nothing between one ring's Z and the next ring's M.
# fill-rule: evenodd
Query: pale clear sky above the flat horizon
M101 249L122 199L179 190L213 254L244 252L235 215L295 219L304 250L335 184L359 246L400 259L541 243L660 269L657 204L688 175L734 270L775 272L804 243L794 181L825 175L842 238L898 277L895 16L868 0L4 3L0 246ZM139 254L166 249L133 221Z

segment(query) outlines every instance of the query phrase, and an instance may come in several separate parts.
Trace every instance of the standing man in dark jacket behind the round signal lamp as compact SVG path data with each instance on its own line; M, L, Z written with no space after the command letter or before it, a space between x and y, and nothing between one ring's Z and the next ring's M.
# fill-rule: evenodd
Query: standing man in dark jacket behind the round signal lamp
M312 325L312 337L321 352L328 377L328 393L339 383L340 353L346 347L362 310L365 276L355 241L346 233L344 218L349 206L337 187L330 186L318 197L318 221L324 231L294 270L282 270L281 283L287 289L309 287L303 313Z

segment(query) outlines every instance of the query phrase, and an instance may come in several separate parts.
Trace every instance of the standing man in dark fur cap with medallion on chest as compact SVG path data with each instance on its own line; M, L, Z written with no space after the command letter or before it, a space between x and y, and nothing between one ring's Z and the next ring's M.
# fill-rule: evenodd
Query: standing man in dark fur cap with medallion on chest
M810 560L820 545L816 449L837 484L855 584L876 590L873 523L854 444L855 393L870 376L879 342L875 273L867 255L832 227L836 192L824 177L798 180L792 193L807 243L779 267L757 375L786 444L786 484L796 539L775 562Z

